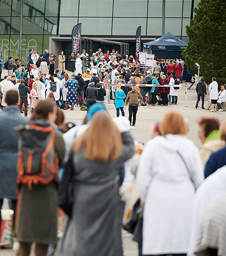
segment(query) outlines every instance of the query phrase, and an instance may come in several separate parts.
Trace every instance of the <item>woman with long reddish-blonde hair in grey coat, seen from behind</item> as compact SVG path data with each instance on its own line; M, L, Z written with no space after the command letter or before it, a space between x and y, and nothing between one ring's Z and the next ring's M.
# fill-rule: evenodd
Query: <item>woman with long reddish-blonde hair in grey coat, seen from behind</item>
M134 155L127 118L99 111L73 143L74 205L56 256L122 256L118 168Z

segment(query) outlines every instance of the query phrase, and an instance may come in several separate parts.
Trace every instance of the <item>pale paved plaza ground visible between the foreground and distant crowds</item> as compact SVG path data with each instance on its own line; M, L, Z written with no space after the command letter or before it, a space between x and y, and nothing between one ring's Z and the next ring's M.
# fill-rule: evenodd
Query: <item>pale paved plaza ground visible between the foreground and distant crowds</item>
M185 83L184 83L185 84ZM189 83L190 85L190 83ZM207 87L208 89L208 87ZM208 90L207 90L208 91ZM201 143L198 139L198 124L197 121L203 117L217 117L220 122L226 119L226 112L209 112L203 110L200 107L195 109L196 103L196 91L192 87L191 90L188 90L188 100L186 106L186 89L180 88L178 91L178 102L177 105L168 105L168 106L140 106L137 114L137 122L135 124L135 130L131 130L134 139L139 142L146 143L149 140L149 130L152 124L156 121L160 121L165 112L169 110L176 110L184 114L189 122L189 133L188 138L191 139L198 147L201 146ZM205 108L208 108L209 104L209 95L205 98ZM201 106L201 102L199 102ZM116 117L116 110L113 101L110 101L108 104L108 111L112 118ZM66 110L64 111L66 121L71 121L76 124L81 124L86 112L80 111L80 108L77 106L74 111ZM29 113L29 116L31 114ZM128 117L128 108L125 110L125 116ZM137 243L133 242L130 234L123 235L123 246L124 246L124 255L125 256L137 256ZM1 250L1 256L14 256L15 252L12 250Z

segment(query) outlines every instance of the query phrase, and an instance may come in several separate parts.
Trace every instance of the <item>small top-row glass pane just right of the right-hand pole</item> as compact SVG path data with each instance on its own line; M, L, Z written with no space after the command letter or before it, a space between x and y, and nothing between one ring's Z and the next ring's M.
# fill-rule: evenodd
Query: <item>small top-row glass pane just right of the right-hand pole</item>
M182 17L182 0L166 0L165 16L166 17Z

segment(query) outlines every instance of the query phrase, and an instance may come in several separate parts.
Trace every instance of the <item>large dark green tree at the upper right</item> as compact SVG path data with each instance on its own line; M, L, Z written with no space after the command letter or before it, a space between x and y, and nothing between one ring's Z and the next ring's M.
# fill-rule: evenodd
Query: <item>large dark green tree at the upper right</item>
M193 70L194 63L200 65L200 74L207 83L216 77L219 84L226 82L226 1L201 0L194 9L194 19L186 26L189 36L188 48L182 56Z

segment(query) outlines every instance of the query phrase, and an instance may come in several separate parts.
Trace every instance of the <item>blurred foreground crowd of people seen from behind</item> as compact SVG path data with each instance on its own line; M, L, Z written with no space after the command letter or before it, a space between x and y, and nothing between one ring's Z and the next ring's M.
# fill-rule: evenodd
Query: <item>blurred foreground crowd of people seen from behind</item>
M135 87L128 95L133 92L139 95ZM57 256L122 256L123 219L130 221L133 207L129 214L124 210L128 191L133 198L126 203L140 200L140 256L224 255L226 122L201 118L198 150L187 138L185 117L170 111L143 146L133 140L130 120L111 119L102 103L89 107L82 125L68 125L51 99L39 100L30 119L17 110L16 90L6 93L5 102L0 206L11 199L16 212L16 255L29 255L35 242L35 255L57 244ZM65 211L59 241L57 204Z

